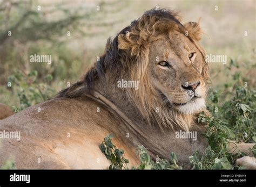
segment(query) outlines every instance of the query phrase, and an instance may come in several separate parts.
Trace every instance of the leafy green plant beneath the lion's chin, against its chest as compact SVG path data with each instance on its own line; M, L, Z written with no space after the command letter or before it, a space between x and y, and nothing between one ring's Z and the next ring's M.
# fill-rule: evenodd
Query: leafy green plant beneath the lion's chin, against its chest
M228 141L234 138L232 130L226 126L221 119L205 116L204 112L199 114L199 123L206 124L206 138L209 146L201 158L198 154L193 155L192 162L195 169L234 169L234 161L241 156L241 153L232 154L228 152ZM201 167L196 167L201 163ZM196 164L195 164L196 163Z

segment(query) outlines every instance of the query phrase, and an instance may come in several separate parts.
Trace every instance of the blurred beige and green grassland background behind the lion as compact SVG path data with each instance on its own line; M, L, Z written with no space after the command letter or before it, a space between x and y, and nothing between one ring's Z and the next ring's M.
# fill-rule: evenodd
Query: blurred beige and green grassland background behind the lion
M256 88L256 1L2 0L0 103L17 112L52 98L85 74L108 37L156 6L179 11L182 23L201 18L201 45L208 54L227 55L227 64L209 64L219 97L232 96L234 80ZM31 63L35 53L51 55L52 63Z

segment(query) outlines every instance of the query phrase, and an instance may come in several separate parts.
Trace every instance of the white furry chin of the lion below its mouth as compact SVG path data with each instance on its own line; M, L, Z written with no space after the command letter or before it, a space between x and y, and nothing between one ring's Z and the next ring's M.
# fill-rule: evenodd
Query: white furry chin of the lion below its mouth
M205 107L204 98L195 98L191 99L186 104L176 106L176 109L183 114L194 114L203 111Z

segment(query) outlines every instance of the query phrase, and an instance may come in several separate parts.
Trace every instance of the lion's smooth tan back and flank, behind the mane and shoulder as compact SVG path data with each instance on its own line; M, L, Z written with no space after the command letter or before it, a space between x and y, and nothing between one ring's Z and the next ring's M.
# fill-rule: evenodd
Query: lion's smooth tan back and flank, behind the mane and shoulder
M11 159L23 169L106 168L109 162L98 148L110 133L102 127L106 115L90 99L59 98L1 120L0 166ZM7 138L10 132L16 137Z

